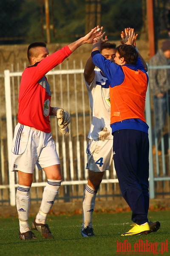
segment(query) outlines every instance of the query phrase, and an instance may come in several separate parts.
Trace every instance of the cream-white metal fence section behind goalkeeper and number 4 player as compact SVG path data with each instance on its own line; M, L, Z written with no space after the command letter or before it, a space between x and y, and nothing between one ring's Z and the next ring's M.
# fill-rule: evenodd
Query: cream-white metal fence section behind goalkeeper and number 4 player
M75 198L82 198L85 184L87 183L88 172L85 170L87 163L86 146L87 134L91 123L91 110L86 92L82 62L79 68L74 61L73 69L68 68L66 61L65 68L60 67L47 74L51 84L52 106L62 106L71 113L70 135L62 135L58 130L57 119L51 116L51 128L56 142L57 152L59 153L62 166L62 187L60 188L58 200L71 201ZM1 111L1 131L6 130L4 138L1 139L1 183L0 183L0 202L2 204L15 204L15 189L17 187L17 175L8 172L11 157L11 142L13 139L14 127L17 124L18 90L22 72L4 71L4 87L6 110ZM1 94L2 96L2 94ZM5 106L5 105L4 105ZM4 116L5 114L5 116ZM5 131L4 131L5 133ZM1 134L3 135L3 134ZM4 148L4 144L7 147ZM4 165L5 163L5 165ZM31 200L38 201L42 196L42 188L45 186L46 177L44 172L35 169L34 182L31 189ZM115 183L113 190L120 195L118 180L114 167L111 172L106 171L103 186L98 196L113 194L109 183ZM109 195L108 195L109 196Z

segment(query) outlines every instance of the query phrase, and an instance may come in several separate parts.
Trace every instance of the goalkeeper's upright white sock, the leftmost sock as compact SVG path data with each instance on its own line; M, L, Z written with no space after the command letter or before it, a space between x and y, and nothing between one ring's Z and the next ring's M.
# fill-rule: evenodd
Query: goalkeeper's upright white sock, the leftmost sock
M30 190L29 186L23 186L18 184L17 192L16 192L16 205L17 205L17 212L18 212L21 233L25 233L30 230L30 227L28 224L29 205L30 205L29 190Z

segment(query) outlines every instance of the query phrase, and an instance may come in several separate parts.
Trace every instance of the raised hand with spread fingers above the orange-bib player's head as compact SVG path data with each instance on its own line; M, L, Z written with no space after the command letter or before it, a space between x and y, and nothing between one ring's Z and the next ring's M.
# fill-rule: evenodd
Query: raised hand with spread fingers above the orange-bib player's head
M134 29L127 28L125 29L125 32L122 31L121 33L122 40L120 42L121 44L130 44L130 45L136 46L137 37L138 37L138 34L135 35Z

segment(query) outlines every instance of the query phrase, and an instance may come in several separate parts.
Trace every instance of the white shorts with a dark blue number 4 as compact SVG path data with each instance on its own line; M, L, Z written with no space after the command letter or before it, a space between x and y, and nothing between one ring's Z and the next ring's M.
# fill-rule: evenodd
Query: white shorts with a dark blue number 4
M109 170L113 160L113 140L89 140L86 153L88 163L85 169L93 172Z

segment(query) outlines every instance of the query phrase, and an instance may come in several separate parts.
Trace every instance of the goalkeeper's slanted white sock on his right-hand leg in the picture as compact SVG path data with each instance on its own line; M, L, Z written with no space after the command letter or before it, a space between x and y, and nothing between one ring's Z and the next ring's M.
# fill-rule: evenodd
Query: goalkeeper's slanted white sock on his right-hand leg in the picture
M62 180L49 180L47 179L47 185L44 188L42 195L42 202L40 210L35 218L36 223L45 224L48 212L54 204L54 201L58 195L58 191Z

